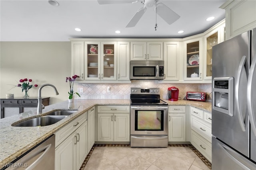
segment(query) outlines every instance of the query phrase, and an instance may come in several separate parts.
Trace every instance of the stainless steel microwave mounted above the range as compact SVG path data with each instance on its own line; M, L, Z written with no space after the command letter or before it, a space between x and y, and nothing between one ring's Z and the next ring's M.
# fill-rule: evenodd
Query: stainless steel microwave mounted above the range
M131 80L163 80L164 61L132 60L130 61Z

